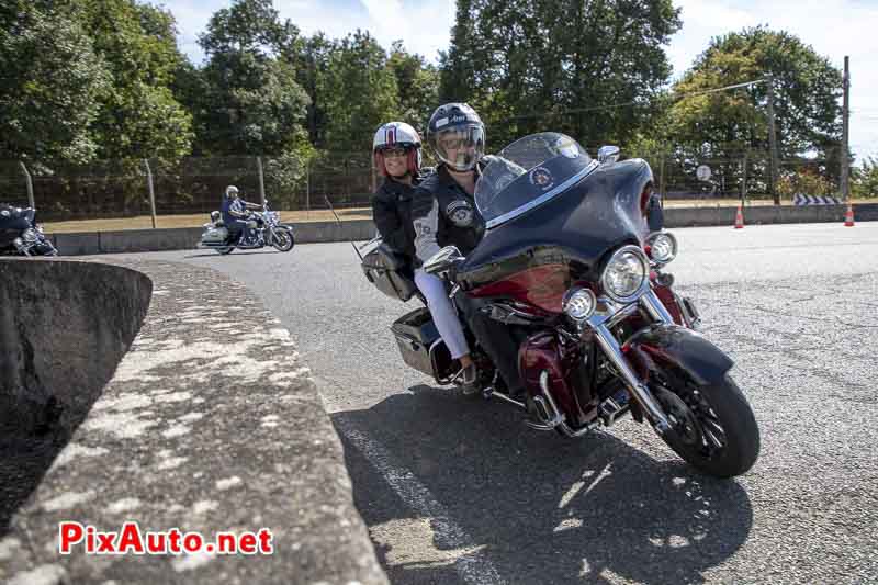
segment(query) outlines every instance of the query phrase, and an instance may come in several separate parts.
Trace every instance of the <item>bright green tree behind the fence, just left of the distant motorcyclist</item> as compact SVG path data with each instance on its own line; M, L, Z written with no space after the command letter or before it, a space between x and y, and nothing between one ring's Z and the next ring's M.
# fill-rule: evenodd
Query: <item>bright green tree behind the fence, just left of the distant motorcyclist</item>
M82 0L81 22L110 72L92 127L100 158L189 153L191 115L170 86L183 57L173 16L134 0Z

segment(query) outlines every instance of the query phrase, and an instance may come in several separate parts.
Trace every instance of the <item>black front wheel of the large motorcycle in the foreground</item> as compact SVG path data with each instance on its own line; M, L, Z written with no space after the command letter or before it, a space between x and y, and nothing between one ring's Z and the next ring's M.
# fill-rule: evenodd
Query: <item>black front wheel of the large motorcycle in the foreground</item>
M653 387L671 430L664 441L687 463L717 477L745 473L759 455L759 427L741 389L725 375L708 385Z

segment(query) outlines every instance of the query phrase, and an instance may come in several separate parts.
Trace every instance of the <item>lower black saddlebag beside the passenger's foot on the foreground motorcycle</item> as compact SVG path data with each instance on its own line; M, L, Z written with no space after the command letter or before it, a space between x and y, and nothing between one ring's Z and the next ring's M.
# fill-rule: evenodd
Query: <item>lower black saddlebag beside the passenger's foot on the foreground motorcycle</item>
M403 361L415 370L431 375L440 384L455 373L451 353L442 341L427 307L406 313L391 326Z

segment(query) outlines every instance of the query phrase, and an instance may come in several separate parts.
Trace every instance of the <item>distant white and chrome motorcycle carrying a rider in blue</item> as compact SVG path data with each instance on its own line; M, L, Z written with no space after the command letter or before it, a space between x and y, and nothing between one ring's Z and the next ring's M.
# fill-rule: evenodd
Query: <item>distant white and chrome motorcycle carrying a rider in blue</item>
M198 244L199 248L212 248L219 254L232 254L235 248L254 250L273 246L279 251L290 251L295 245L293 226L280 223L281 215L270 211L268 201L262 204L261 212L252 212L247 220L247 230L229 234L218 211L211 212L211 221L204 224L204 233Z

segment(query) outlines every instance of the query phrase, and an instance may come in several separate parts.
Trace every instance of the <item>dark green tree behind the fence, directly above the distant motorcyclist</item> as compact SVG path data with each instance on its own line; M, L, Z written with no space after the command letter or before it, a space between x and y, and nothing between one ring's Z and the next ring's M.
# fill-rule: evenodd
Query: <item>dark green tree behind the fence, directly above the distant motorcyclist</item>
M290 60L297 35L270 0L238 0L211 18L199 37L206 92L193 103L200 153L281 155L294 146L308 103Z

